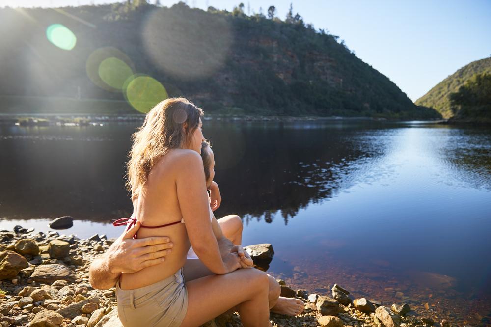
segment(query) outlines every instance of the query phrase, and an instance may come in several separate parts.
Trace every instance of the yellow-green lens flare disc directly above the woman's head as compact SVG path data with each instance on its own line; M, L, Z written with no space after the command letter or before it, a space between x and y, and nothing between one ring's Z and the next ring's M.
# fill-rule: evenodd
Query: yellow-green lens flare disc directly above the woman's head
M123 86L126 100L136 110L147 113L169 96L161 82L146 75L134 75Z

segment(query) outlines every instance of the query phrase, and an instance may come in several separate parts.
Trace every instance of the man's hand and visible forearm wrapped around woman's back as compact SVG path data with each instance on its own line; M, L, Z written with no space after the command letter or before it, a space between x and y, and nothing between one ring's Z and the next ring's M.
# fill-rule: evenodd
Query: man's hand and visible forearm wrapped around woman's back
M162 263L171 252L172 243L165 236L134 240L133 235L140 225L137 221L90 264L89 281L93 288L107 290L114 287L121 273L136 273Z

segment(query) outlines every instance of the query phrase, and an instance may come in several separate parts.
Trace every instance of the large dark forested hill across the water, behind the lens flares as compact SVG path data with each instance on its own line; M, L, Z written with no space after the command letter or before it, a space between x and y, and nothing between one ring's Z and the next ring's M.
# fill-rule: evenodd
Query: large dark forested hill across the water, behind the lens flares
M183 95L206 112L438 116L416 107L337 36L304 24L292 11L284 20L274 15L273 7L267 16L246 15L243 5L233 12L203 11L142 0L0 9L0 97L83 102L148 94L137 100L151 103L165 91L152 79L132 82L143 74L162 83L169 96ZM10 103L2 101L1 110ZM120 113L132 111L120 104ZM77 106L45 107L70 112Z

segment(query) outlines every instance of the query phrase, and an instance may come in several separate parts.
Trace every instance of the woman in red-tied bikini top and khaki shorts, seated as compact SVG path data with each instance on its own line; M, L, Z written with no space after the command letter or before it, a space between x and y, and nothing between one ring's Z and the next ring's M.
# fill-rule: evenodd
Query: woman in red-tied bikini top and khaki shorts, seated
M232 307L244 326L271 326L267 275L240 269L238 253L220 255L212 231L199 155L202 115L184 98L167 99L133 135L128 189L141 222L137 237L165 235L174 247L165 263L121 275L116 296L124 326L199 326ZM215 275L184 281L190 243Z

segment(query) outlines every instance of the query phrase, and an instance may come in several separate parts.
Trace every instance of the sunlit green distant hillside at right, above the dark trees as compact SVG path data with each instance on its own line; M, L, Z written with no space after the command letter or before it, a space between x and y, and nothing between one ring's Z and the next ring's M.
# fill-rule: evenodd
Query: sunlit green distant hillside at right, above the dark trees
M416 105L434 108L443 118L454 116L451 110L449 95L458 92L459 87L469 81L475 74L491 73L491 58L476 60L465 65L443 81L439 82L428 93L416 100Z

